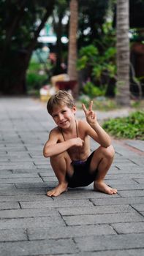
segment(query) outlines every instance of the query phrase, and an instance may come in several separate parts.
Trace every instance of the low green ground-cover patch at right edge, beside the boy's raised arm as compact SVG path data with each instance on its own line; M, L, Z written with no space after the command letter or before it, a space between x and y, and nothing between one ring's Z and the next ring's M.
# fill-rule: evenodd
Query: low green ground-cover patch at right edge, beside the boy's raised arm
M136 111L128 117L105 121L103 128L116 138L144 140L144 113Z

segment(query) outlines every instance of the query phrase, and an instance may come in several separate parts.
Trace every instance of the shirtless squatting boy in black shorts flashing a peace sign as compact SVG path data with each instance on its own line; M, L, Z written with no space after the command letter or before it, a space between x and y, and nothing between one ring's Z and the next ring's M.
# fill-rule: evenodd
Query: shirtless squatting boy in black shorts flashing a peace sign
M50 131L45 143L44 157L50 157L50 164L58 178L58 186L47 192L48 196L58 196L67 187L84 187L94 181L94 190L115 194L116 189L104 182L107 170L113 162L114 149L109 135L99 125L96 114L83 104L86 121L76 120L75 102L67 91L58 91L48 100L48 113L57 127ZM89 137L100 144L90 151Z

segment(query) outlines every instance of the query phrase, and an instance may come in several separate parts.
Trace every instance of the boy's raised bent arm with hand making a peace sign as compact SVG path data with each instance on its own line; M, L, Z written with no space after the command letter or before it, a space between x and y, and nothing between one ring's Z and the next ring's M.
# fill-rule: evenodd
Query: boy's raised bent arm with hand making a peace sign
M88 110L86 109L86 106L83 104L83 111L86 115L86 121L91 126L91 128L96 132L91 132L90 129L88 129L89 135L94 138L101 146L107 148L111 144L110 136L105 132L105 130L100 126L98 121L96 120L96 113L92 110L93 102L91 101Z

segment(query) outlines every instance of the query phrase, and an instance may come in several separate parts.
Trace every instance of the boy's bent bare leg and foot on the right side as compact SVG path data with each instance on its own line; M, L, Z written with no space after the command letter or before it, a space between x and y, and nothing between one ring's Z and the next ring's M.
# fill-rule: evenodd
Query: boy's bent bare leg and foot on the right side
M91 170L96 170L97 167L97 175L96 180L94 181L94 190L99 190L109 195L113 195L117 192L117 189L113 189L104 182L104 178L107 174L107 171L110 168L110 165L113 162L114 157L114 149L113 146L109 146L108 148L104 148L100 146L94 153L94 157L91 160ZM94 169L95 168L95 169Z

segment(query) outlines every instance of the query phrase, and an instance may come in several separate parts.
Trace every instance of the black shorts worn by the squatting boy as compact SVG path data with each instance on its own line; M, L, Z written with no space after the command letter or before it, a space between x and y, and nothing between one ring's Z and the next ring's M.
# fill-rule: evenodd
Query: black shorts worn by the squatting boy
M68 187L86 187L95 180L97 169L92 173L89 170L93 154L94 152L91 153L86 162L72 162L74 173L72 176L69 173L66 174Z

